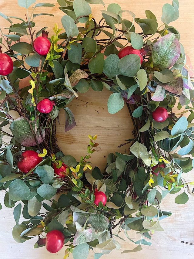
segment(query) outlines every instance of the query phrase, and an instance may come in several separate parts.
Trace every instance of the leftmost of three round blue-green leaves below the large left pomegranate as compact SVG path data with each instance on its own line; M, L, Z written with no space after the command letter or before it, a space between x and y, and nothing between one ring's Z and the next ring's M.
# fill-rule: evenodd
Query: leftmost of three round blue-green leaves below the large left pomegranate
M14 201L23 200L30 195L30 189L24 181L16 179L9 185L9 197Z

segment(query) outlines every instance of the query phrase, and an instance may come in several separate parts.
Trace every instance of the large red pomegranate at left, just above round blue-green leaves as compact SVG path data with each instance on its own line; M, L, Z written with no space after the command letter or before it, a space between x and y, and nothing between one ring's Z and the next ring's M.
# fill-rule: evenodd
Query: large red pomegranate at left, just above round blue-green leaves
M41 161L42 157L39 157L37 152L33 150L26 150L22 153L22 156L18 161L18 169L24 173L28 173Z

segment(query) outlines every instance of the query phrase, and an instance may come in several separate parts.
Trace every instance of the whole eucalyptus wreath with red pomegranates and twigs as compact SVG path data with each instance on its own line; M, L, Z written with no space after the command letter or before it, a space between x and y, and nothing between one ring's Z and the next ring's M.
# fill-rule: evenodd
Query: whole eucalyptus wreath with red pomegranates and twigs
M186 191L193 196L194 182L182 175L194 167L194 83L179 32L169 25L179 17L179 2L163 6L158 27L149 10L139 19L118 4L105 9L102 0L57 1L65 31L55 25L50 38L47 27L35 31L35 20L54 15L36 12L55 5L18 0L26 20L0 13L11 24L0 38L0 189L5 206L15 207L13 238L35 237L34 247L51 253L65 245L64 258L84 259L92 250L97 259L121 248L123 231L137 246L122 253L136 252L151 245L149 232L163 231L160 220L172 214L160 207L166 195L181 192L179 204L188 201ZM102 6L100 21L89 4ZM142 32L135 32L135 23ZM29 83L21 88L24 78ZM96 135L89 135L79 162L61 152L55 136L59 110L68 131L76 123L67 105L90 87L112 92L111 114L126 103L134 125L129 154L109 154L104 172L89 162ZM19 223L21 210L25 221Z

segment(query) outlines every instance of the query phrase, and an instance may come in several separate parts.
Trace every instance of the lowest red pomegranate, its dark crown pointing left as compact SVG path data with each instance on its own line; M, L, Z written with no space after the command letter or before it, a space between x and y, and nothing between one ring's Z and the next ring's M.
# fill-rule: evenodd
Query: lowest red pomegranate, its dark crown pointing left
M45 245L46 250L54 254L59 252L65 242L63 233L59 230L52 230L46 234L45 238L39 238L38 245Z

